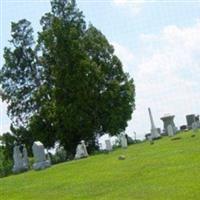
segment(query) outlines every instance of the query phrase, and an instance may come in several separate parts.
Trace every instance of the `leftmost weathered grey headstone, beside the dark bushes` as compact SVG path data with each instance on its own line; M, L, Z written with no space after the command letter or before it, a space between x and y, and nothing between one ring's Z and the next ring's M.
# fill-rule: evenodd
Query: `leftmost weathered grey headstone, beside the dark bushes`
M13 149L14 166L12 171L14 173L28 170L28 155L24 145L15 145Z

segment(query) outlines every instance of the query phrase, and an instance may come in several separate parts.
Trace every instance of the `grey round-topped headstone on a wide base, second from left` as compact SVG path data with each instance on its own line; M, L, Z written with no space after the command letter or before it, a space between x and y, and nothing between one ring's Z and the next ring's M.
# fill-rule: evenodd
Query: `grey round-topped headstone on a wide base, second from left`
M33 169L40 170L47 168L51 165L50 160L46 159L44 145L40 141L36 141L33 143L32 150L34 156Z

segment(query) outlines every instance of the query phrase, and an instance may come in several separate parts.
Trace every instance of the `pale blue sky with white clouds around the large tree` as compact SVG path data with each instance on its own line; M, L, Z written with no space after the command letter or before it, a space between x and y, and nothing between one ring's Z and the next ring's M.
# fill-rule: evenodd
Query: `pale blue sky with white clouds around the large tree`
M26 18L35 35L49 1L0 0L0 61L8 46L11 21ZM150 131L148 107L157 127L175 115L177 127L186 114L200 113L200 3L198 1L79 0L87 22L115 47L124 71L136 85L136 109L126 132L142 138ZM0 102L0 134L9 130L6 104Z

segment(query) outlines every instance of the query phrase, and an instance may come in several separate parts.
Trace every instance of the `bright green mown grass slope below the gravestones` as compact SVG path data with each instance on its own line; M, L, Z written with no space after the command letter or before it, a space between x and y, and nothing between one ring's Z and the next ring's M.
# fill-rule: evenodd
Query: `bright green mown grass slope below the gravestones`
M199 199L200 132L0 179L2 200ZM123 154L126 160L118 160ZM3 197L3 198L2 198Z

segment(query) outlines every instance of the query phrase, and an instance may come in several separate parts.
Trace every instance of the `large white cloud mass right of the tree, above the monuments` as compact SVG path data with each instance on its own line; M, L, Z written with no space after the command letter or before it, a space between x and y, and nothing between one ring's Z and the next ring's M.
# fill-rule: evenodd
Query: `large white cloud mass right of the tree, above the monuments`
M136 110L127 133L136 131L140 138L150 131L148 107L160 128L165 113L175 115L177 127L186 124L185 115L200 114L200 22L192 27L167 26L155 35L141 34L141 44L138 57L114 43L136 84ZM140 63L133 69L138 58Z

